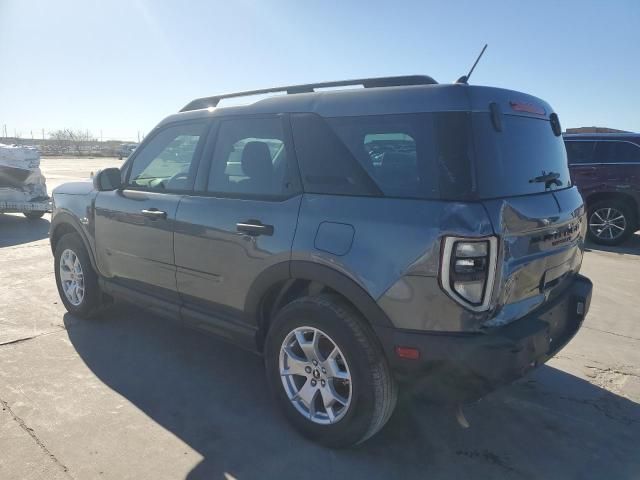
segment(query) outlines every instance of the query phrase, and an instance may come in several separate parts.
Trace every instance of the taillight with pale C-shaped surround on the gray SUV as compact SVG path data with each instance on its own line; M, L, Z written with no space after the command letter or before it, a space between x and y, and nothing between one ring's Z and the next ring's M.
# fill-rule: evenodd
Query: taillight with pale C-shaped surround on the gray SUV
M497 249L496 237L445 237L440 265L442 288L470 310L487 310L496 273Z

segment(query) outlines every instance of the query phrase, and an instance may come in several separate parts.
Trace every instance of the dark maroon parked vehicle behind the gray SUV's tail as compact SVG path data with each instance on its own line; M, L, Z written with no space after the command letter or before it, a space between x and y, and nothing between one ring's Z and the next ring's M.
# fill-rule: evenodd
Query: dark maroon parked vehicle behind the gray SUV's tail
M640 225L640 135L567 134L571 178L587 204L590 240L625 241Z

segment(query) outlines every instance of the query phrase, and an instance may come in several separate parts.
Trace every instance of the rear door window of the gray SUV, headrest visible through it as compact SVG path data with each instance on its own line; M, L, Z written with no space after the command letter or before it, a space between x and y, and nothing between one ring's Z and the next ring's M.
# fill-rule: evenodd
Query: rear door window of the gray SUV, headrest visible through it
M283 195L287 168L280 118L223 120L218 129L207 190Z

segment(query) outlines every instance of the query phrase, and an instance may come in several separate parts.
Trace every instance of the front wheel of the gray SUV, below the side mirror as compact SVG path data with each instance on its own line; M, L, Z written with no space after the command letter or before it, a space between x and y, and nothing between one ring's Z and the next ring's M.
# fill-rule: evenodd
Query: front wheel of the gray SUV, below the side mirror
M67 233L58 241L54 271L58 294L67 311L81 318L92 316L100 303L98 277L77 233Z

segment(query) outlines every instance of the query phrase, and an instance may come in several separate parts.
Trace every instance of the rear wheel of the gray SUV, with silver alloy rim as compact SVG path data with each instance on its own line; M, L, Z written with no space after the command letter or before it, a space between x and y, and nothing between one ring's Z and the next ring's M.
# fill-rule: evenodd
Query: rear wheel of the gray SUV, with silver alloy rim
M338 296L303 297L276 315L265 345L269 387L304 436L341 448L391 417L397 387L373 331Z

